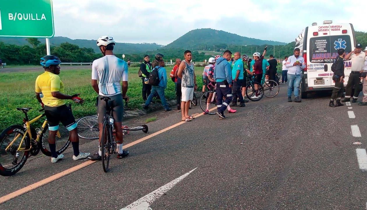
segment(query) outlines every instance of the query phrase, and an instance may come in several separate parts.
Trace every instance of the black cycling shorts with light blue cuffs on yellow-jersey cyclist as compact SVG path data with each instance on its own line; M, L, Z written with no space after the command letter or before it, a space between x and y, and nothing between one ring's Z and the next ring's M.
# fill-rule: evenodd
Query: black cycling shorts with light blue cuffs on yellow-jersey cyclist
M66 104L51 107L44 106L45 114L47 118L48 129L50 131L57 131L59 129L59 123L61 122L68 131L76 128L77 124L75 122L74 115L70 110L70 107Z

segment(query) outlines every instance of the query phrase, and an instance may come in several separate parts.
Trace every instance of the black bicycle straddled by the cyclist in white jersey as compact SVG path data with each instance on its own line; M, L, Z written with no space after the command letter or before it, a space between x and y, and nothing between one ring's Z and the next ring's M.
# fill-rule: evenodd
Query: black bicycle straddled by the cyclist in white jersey
M113 131L113 117L111 115L111 107L108 101L111 100L110 97L101 97L101 100L106 102L106 114L103 117L103 127L102 127L102 138L99 142L99 146L102 151L102 167L103 171L108 172L110 157L112 154L116 153L116 141L112 134Z

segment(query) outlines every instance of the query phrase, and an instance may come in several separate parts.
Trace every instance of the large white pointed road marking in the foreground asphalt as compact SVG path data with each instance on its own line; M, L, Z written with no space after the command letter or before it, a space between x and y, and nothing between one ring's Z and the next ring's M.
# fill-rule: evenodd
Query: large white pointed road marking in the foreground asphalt
M131 203L130 205L126 206L125 208L122 208L120 210L152 210L150 208L150 205L160 196L162 196L164 193L168 192L170 189L172 189L178 182L180 182L182 179L190 175L193 171L195 171L196 168L193 170L187 172L186 174L183 174L181 177L178 177L177 179L172 180L171 182L161 186L160 188L156 189L155 191L149 193L148 195L140 198L139 200L135 201L134 203Z

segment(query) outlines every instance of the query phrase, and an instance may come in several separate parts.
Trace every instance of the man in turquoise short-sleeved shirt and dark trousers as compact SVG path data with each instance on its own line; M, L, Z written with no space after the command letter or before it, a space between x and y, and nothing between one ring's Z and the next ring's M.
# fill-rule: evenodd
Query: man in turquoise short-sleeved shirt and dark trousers
M233 64L232 68L232 94L233 100L230 106L237 106L237 98L240 99L240 105L238 107L245 107L245 102L243 100L243 96L241 94L241 85L243 83L243 62L240 59L241 54L240 52L235 53L235 63Z

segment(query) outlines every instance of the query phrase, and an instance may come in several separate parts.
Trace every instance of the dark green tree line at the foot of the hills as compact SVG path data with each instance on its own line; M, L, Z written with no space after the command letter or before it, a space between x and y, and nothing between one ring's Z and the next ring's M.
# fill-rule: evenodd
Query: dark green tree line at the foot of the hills
M367 33L356 32L355 35L358 43L361 43L363 47L367 46ZM39 65L40 58L46 55L46 45L41 44L41 42L37 38L27 38L27 41L31 46L18 46L0 42L0 58L2 59L3 63L11 65ZM283 59L284 56L290 56L292 54L294 45L294 42L288 43L287 45L270 45L268 46L266 57L268 57L270 54L274 54L274 57ZM242 47L241 45L218 45L218 49L222 49L222 51L225 49L231 50L232 53L239 51L242 52L242 54L247 54L250 57L252 56L252 53L256 51L256 49L258 52L262 52L264 50L264 47L265 45L252 45ZM59 46L51 46L50 50L52 55L58 56L61 61L65 63L89 63L103 56L102 53L95 52L92 48L79 47L68 42L61 43ZM214 52L210 53L206 51L199 53L197 51L202 49L189 50L192 51L194 62L203 62L204 60L208 60L209 57L214 57L217 55L217 53ZM161 49L147 51L145 53L125 54L124 60L141 62L143 61L143 56L145 54L148 54L151 60L153 60L156 53L162 53L164 54L165 61L170 62L170 60L172 60L174 62L176 58L183 58L183 51L185 51L185 49L163 47ZM122 54L116 54L116 56L122 58Z

